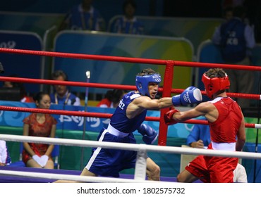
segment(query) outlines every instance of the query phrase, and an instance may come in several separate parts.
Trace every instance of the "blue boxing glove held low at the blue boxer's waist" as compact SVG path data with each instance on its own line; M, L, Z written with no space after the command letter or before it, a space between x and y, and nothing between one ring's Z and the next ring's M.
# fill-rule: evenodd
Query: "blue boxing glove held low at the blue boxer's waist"
M140 134L142 134L142 140L145 144L153 144L158 137L157 132L149 125L141 124L137 130Z

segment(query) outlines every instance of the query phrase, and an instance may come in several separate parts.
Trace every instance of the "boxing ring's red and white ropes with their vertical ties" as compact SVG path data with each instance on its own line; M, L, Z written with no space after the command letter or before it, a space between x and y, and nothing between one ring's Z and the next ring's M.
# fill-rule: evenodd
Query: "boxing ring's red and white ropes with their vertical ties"
M171 94L180 94L183 89L173 89L171 87L172 78L174 74L174 66L185 66L185 67L204 67L204 68L229 68L236 70L253 70L261 71L260 67L257 66L248 66L248 65L227 65L227 64L217 64L217 63L194 63L194 62L182 62L182 61L169 61L169 60L157 60L157 59L145 59L145 58L125 58L118 56L97 56L97 55L85 55L78 53L59 53L59 52L49 52L49 51L30 51L30 50L20 50L20 49L0 49L1 53L15 53L23 55L34 55L34 56L52 56L59 58L80 58L80 59L89 59L93 61L117 61L117 62L126 62L126 63L143 63L143 64L154 64L154 65L164 65L164 85L163 88L159 88L159 91L162 91L162 96L171 96ZM28 79L20 77L0 77L0 81L10 81L10 82L23 82L23 83L35 83L35 84L60 84L66 86L78 86L78 87L96 87L96 88L111 88L111 89L128 89L135 90L135 86L130 85L119 85L119 84L97 84L90 82L66 82L66 81L56 81L56 80L39 80L39 79ZM202 95L205 95L205 91L202 91ZM236 98L246 98L246 99L255 99L260 100L260 94L238 94L238 93L227 93L228 96ZM20 111L20 112L29 112L29 113L49 113L49 114L60 114L60 115L77 115L83 117L104 117L109 118L111 114L104 113L88 113L88 112L79 112L79 111L69 111L69 110L44 110L37 108L19 108L19 107L8 107L0 106L0 110L8 111ZM44 179L42 182L51 182L55 179L66 179L74 180L81 182L149 182L145 179L146 172L146 162L145 155L147 152L160 152L160 153L178 153L178 154L190 154L190 155L214 155L214 156L229 156L229 157L238 157L246 159L261 159L261 153L249 153L249 152L230 152L230 151L217 151L217 150L205 150L205 149L196 149L196 148L181 148L181 147L170 147L166 146L166 137L168 132L167 125L164 124L163 115L168 108L162 109L160 111L160 117L146 117L145 120L148 121L159 121L159 140L158 145L145 145L145 144L118 144L112 142L98 142L98 141L88 141L88 140L76 140L76 139L50 139L44 137L34 137L34 136L18 136L18 135L8 135L0 134L0 139L6 141L23 141L23 142L35 142L35 143L44 143L44 144L59 144L63 146L80 146L80 147L102 147L102 148L116 148L123 150L133 150L138 152L138 158L135 166L135 173L132 176L128 177L127 175L119 178L111 177L80 177L78 174L80 172L75 171L66 171L66 170L44 170L39 172L38 170L31 170L26 168L20 172L20 169L17 168L0 168L1 176L6 177L6 182L10 177L37 177L39 179ZM207 125L205 120L187 120L183 123L190 124L204 124ZM260 129L261 125L253 123L245 123L245 127ZM7 170L8 169L8 170ZM52 173L50 173L52 172ZM54 172L54 173L53 173ZM10 179L9 179L10 180ZM40 180L40 181L41 181ZM173 178L164 178L164 182L175 182Z

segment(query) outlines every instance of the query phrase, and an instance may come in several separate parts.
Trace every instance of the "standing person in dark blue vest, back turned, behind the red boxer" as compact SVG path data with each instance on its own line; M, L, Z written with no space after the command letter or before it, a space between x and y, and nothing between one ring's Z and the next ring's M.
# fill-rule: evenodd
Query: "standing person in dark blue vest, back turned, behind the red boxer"
M224 63L250 65L251 49L255 46L253 29L243 22L245 8L233 8L233 18L216 28L212 42L220 46ZM229 91L251 94L255 75L253 71L226 70L231 86ZM250 99L235 98L242 109L250 107Z

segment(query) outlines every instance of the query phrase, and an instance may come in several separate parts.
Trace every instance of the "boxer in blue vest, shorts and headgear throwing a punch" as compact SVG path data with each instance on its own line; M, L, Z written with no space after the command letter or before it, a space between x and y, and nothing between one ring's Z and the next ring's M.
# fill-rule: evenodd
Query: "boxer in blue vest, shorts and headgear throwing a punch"
M135 82L138 91L130 91L123 96L111 117L109 126L107 129L102 129L97 140L136 144L133 132L138 130L142 134L143 141L152 144L157 139L157 132L142 123L147 110L186 106L202 101L200 89L195 87L188 87L177 96L155 99L159 82L161 76L151 68L138 73ZM121 170L135 167L136 155L136 151L92 148L90 160L80 175L119 177ZM159 177L160 167L147 157L147 178L159 181Z

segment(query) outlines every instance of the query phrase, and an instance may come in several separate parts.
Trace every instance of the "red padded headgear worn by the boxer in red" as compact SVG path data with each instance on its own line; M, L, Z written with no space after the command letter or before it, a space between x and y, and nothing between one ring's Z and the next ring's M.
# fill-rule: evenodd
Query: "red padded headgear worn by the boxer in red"
M213 94L218 91L229 89L230 86L229 77L227 75L226 77L210 78L204 73L204 75L202 75L202 82L205 85L207 96L209 98L213 98Z

